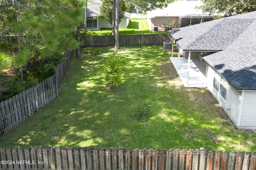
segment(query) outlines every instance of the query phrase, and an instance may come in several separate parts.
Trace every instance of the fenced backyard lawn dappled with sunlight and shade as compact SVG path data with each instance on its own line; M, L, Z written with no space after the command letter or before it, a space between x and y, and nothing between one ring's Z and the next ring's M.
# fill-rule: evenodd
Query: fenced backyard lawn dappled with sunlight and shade
M113 90L99 72L113 48L101 49L73 57L59 97L0 137L0 147L256 151L256 133L236 129L207 89L184 88L162 45L121 47L126 74ZM140 104L150 105L148 119L137 119Z

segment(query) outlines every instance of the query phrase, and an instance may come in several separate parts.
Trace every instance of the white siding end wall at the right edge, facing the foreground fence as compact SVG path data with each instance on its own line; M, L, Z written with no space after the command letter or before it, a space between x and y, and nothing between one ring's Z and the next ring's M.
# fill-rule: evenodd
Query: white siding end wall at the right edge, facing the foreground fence
M256 129L256 91L244 91L241 112L241 129Z

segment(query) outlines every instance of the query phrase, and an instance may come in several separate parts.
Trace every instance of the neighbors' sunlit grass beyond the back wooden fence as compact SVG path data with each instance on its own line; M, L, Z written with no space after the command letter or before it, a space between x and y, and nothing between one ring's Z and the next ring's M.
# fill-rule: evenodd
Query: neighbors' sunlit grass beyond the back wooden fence
M134 35L134 34L166 34L167 31L151 31L149 30L148 23L146 19L130 18L130 23L127 28L120 28L119 35ZM102 28L98 31L88 30L87 35L112 35L111 28Z

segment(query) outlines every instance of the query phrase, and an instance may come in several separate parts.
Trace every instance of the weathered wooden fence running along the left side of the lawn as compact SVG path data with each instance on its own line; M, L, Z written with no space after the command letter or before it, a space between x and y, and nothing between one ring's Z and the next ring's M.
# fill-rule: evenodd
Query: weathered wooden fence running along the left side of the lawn
M35 87L1 102L0 136L32 116L44 105L58 96L60 84L64 78L71 51L66 51L65 61L56 69L55 74Z

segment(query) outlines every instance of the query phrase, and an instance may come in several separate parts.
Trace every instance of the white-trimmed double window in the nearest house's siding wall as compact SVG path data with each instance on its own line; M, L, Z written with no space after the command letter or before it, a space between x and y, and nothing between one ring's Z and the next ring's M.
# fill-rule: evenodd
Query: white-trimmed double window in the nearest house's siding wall
M218 94L220 94L220 96L226 101L228 93L228 82L217 72L215 72L214 74L213 87L218 92Z

